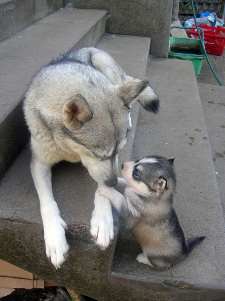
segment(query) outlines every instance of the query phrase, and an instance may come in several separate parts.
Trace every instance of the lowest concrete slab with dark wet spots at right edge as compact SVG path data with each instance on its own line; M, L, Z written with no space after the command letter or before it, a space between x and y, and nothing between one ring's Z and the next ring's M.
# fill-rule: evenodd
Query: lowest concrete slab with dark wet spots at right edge
M225 87L198 83L198 90L207 124L223 215L225 216Z

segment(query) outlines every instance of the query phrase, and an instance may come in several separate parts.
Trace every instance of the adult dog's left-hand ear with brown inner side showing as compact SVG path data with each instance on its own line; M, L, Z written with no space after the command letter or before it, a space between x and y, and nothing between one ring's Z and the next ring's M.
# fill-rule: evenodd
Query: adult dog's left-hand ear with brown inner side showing
M63 105L63 124L70 131L79 130L86 121L92 119L92 116L88 103L80 94L72 96Z

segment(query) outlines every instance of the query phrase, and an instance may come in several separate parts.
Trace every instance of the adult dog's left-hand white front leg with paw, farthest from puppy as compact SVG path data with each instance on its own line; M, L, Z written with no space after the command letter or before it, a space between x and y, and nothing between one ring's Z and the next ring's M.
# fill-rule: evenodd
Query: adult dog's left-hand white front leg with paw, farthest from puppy
M33 157L31 174L40 200L46 255L49 261L51 258L55 269L58 269L65 260L69 249L64 231L68 227L60 217L52 194L51 165L43 164Z

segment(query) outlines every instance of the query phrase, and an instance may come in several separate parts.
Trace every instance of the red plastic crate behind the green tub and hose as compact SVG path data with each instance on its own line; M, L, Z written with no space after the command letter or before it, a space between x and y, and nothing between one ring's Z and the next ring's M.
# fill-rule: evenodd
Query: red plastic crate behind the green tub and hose
M207 25L198 25L198 27L204 31L206 52L209 54L222 55L225 47L225 28ZM198 39L198 32L195 25L193 25L193 29L189 29L188 36L189 38Z

